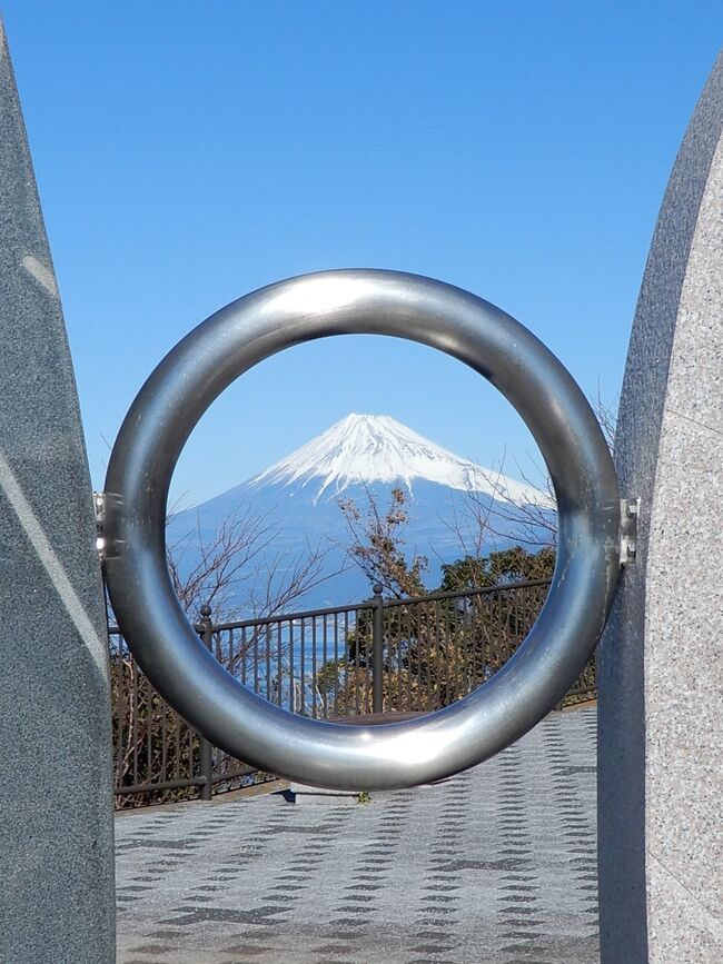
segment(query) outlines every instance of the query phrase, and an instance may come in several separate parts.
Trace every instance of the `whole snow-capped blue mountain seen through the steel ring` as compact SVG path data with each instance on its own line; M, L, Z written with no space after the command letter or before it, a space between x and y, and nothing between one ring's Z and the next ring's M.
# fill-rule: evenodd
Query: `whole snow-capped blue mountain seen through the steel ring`
M477 513L494 509L495 501L504 503L505 515L511 505L549 506L547 496L532 486L460 458L388 415L351 414L252 478L174 516L169 544L190 530L210 539L225 519L247 515L263 519L274 533L255 558L259 569L274 568L283 579L294 560L320 543L327 548L326 569L337 572L348 541L338 499L353 499L364 514L373 498L385 511L394 488L407 495L404 550L428 558L429 586L438 585L443 563L465 554L458 530L475 526L471 494ZM514 523L508 523L509 535L499 517L495 528L499 531L485 551L513 541ZM245 583L239 592L241 609L241 596L250 590L254 586ZM368 598L370 592L366 577L347 563L345 572L296 599L293 608L341 605Z

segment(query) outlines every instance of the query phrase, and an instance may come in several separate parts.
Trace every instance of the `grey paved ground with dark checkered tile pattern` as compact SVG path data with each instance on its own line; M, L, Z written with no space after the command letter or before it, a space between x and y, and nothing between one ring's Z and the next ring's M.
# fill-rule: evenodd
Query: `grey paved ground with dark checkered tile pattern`
M436 786L117 818L119 964L593 964L595 710Z

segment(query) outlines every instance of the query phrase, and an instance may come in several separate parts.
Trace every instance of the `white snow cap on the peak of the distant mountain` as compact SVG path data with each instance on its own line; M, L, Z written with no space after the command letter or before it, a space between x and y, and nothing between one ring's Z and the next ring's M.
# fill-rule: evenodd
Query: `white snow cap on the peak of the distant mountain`
M318 486L318 499L329 487L336 494L359 483L398 481L412 490L415 479L483 491L519 505L543 498L533 487L463 459L388 415L354 413L269 466L249 485Z

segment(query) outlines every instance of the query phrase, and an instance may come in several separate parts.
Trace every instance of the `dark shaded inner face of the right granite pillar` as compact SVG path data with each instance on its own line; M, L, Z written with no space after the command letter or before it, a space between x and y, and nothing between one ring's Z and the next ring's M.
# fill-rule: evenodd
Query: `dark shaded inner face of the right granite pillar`
M648 961L644 640L651 506L681 294L722 130L723 54L703 89L663 199L621 398L615 440L621 494L641 498L642 514L637 559L624 573L597 657L603 964Z

